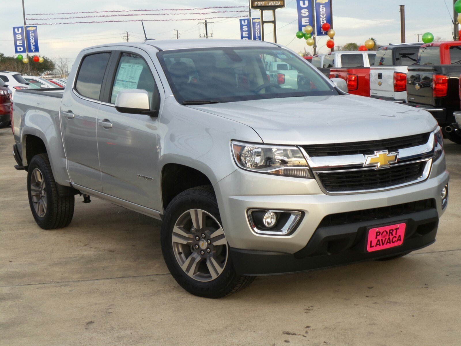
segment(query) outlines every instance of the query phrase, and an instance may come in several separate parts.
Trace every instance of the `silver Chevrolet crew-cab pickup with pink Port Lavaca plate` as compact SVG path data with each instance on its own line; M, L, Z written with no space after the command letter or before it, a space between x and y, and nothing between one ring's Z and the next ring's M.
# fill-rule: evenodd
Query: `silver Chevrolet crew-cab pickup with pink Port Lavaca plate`
M271 83L266 61L307 83ZM432 244L449 181L437 122L344 87L270 42L87 48L65 89L14 96L16 168L44 229L69 225L77 194L162 220L166 265L202 297Z

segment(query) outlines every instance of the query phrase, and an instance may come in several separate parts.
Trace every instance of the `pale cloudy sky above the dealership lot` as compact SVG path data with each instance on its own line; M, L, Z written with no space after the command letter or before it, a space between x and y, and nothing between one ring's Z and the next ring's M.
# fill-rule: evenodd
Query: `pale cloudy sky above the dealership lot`
M446 40L452 40L453 1L452 0L332 0L333 27L336 31L336 45L348 42L363 44L366 39L374 37L379 44L400 43L400 12L399 5L406 4L406 40L417 42L415 34L431 32ZM306 40L295 37L297 28L296 0L285 0L287 6L277 10L278 43L288 46L296 52L312 53L312 48L306 45ZM32 13L59 13L109 10L138 9L170 9L194 8L208 6L248 6L247 0L24 0L26 18ZM448 9L447 9L448 7ZM189 11L200 12L200 11ZM151 12L154 13L154 12ZM259 11L252 11L253 17L260 17ZM23 25L21 0L2 1L0 14L0 53L14 54L12 27ZM69 15L50 15L41 18L62 18ZM79 14L78 16L84 16ZM136 16L122 19L170 19L170 18L202 18L213 15L169 15L169 16ZM223 16L223 14L217 14ZM209 30L213 38L240 38L238 18L248 17L248 11L242 13L226 13L224 16L234 16L226 19L209 19ZM112 19L112 18L107 18ZM117 18L113 18L117 19ZM75 19L67 21L86 21L91 19ZM97 19L99 20L99 19ZM102 20L106 20L103 18ZM65 22L62 19L60 22ZM203 21L203 20L200 20ZM36 21L29 20L28 24ZM59 22L50 20L49 22ZM145 22L147 36L155 39L176 38L175 29L179 30L179 39L199 38L204 32L203 25L194 21ZM267 25L267 24L266 24ZM123 42L122 36L128 31L130 41L143 41L140 22L101 23L101 24L67 24L39 25L38 38L40 55L50 59L69 58L72 62L78 52L86 47L103 43ZM266 29L266 40L272 39ZM211 39L211 38L210 38ZM318 42L319 52L329 51L325 47L327 37Z

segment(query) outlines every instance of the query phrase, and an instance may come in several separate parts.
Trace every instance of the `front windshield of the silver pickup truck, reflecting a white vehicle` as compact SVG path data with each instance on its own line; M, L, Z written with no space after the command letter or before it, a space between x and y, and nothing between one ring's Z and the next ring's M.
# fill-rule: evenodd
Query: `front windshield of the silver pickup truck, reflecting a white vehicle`
M158 56L182 104L338 95L306 60L282 48L200 48Z

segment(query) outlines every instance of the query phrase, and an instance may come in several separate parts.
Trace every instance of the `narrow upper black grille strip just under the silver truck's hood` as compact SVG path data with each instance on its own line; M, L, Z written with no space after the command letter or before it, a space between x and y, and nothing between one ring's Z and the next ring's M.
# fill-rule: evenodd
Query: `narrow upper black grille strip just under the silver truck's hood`
M430 133L422 133L419 135L383 139L378 141L304 145L303 148L310 157L356 154L368 155L372 154L374 150L387 149L391 152L398 149L411 148L425 144L429 139L429 135Z

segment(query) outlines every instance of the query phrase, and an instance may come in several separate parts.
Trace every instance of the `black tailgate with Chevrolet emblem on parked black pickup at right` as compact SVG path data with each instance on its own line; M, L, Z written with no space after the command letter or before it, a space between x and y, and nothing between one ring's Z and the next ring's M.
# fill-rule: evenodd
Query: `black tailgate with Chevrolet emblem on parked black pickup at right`
M433 105L432 76L435 72L433 66L408 66L407 94L408 102L422 105Z

